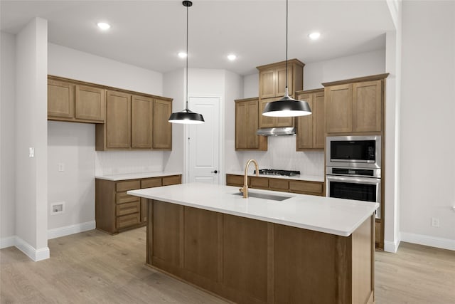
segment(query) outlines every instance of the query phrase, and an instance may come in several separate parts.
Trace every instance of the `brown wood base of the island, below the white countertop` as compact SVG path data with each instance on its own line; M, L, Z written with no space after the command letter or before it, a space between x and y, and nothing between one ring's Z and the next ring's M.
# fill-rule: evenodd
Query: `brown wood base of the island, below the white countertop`
M236 303L373 303L375 221L348 237L149 200L146 263Z

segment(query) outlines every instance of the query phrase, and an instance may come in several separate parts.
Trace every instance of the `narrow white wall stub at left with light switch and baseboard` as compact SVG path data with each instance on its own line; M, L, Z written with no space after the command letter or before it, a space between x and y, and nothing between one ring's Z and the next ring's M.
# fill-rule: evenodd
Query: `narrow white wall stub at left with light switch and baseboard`
M16 36L16 246L34 261L49 257L47 51L48 23L33 19Z

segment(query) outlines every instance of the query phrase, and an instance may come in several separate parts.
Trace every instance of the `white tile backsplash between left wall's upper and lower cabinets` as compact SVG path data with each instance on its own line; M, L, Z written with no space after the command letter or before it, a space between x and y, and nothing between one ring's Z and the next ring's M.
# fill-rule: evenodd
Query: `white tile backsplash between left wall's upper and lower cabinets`
M163 171L162 151L97 151L95 174L128 174Z

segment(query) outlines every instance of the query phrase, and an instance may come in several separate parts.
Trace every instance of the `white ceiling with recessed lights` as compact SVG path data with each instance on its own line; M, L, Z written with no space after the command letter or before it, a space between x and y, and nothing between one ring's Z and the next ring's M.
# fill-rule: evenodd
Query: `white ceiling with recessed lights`
M48 40L166 73L185 66L186 7L181 1L4 1L1 30L17 33L33 17L48 20ZM286 1L195 0L189 14L189 68L240 75L286 59ZM96 23L107 21L109 31ZM324 61L385 48L394 26L386 0L289 1L289 58ZM319 41L308 34L320 31ZM228 53L237 60L228 61Z

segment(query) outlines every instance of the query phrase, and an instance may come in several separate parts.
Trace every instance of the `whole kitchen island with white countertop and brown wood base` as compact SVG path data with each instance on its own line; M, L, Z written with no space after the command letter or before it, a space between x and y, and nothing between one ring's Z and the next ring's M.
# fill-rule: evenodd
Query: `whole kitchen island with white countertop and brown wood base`
M236 303L373 303L378 204L179 184L149 199L146 263Z

